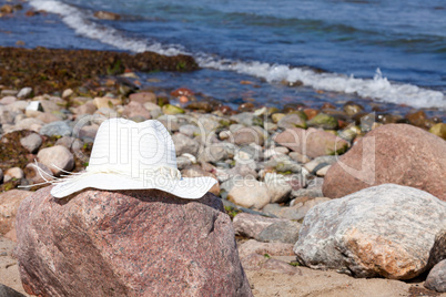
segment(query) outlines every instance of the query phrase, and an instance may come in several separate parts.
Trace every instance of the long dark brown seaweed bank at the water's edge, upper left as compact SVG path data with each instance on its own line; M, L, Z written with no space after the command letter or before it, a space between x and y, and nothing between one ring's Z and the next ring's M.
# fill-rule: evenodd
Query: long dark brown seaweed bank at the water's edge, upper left
M193 71L199 69L190 55L161 55L154 52L126 52L21 49L0 47L0 84L8 88L29 85L34 94L61 92L83 86L89 80L119 75L126 70Z

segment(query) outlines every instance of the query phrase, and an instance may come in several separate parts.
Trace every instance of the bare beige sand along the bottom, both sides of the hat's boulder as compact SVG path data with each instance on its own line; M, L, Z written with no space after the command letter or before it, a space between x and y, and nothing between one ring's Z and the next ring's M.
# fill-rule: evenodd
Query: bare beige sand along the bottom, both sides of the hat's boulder
M17 259L12 257L16 243L0 236L0 284L26 294L21 286ZM283 260L291 258L282 257ZM407 284L389 279L356 279L335 272L320 272L300 267L302 275L276 274L270 270L246 272L254 296L293 297L397 297L442 296L423 287L423 283ZM27 295L28 296L28 295Z

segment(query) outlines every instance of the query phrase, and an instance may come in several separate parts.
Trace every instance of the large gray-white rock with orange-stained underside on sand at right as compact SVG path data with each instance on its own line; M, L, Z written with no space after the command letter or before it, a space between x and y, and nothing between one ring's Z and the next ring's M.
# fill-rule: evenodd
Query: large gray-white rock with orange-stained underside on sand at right
M446 203L395 184L368 187L316 205L294 246L312 268L356 277L410 279L428 267L436 234L446 228Z

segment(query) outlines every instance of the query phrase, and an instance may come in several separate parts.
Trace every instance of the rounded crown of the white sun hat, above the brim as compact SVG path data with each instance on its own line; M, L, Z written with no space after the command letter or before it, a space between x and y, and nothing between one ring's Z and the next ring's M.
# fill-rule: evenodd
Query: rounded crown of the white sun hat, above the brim
M110 119L98 130L87 171L108 168L139 176L160 167L178 170L172 137L161 122Z

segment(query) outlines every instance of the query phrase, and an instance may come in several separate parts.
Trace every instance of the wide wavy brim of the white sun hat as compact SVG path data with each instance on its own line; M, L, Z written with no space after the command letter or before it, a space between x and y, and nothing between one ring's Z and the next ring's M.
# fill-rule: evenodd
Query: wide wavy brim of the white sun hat
M197 199L203 197L216 182L215 178L210 176L183 177L181 180L156 176L155 181L142 181L119 174L98 173L85 177L80 175L75 176L75 178L67 178L51 190L51 195L62 198L88 187L109 191L155 188L181 198Z

